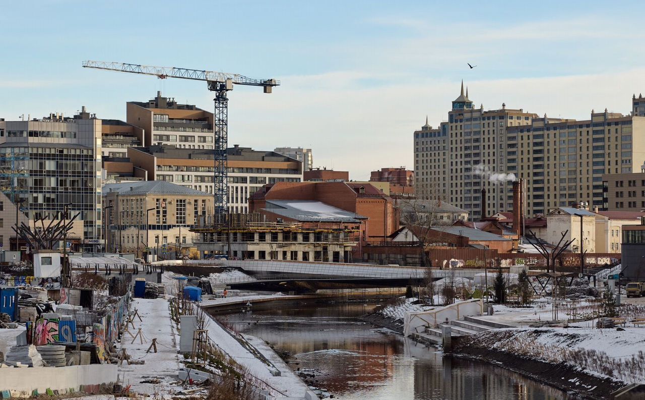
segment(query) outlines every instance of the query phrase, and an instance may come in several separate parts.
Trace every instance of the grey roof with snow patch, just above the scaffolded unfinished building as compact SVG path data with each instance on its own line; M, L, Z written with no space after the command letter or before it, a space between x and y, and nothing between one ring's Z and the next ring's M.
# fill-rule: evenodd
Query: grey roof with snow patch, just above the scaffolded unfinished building
M267 200L264 210L303 222L359 223L361 219L367 219L362 215L313 200Z

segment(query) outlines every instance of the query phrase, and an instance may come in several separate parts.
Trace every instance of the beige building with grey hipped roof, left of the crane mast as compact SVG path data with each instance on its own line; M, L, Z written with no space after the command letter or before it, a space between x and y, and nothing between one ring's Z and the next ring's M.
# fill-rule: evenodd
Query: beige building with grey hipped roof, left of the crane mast
M103 209L106 251L141 257L149 248L169 259L193 246L189 230L213 214L213 195L165 181L114 183L103 186Z

